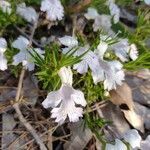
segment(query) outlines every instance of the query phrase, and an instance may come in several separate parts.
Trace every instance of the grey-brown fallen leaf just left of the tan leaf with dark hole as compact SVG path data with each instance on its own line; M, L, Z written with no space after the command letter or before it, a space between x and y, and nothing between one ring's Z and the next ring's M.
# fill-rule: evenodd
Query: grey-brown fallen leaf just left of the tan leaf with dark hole
M107 128L104 128L105 137L108 141L122 138L122 136L130 129L120 108L111 102L108 102L106 106L99 109L98 114L101 118L112 121L112 124L109 124L109 130L111 130L113 135L107 131Z

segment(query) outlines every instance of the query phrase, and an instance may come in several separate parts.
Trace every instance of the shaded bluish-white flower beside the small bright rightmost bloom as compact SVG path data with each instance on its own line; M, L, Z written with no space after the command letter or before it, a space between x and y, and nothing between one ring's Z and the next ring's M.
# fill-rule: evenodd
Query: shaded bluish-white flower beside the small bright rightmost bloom
M128 39L119 39L119 42L111 45L116 56L122 61L128 61L128 51L130 49Z

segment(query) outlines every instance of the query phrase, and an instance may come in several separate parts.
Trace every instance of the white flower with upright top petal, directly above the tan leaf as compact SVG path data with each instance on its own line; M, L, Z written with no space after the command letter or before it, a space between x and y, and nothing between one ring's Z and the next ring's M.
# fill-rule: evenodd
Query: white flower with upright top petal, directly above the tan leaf
M103 60L107 47L107 43L101 42L95 50L95 53L99 56L99 65L92 72L92 77L95 84L104 81L104 88L110 91L116 89L117 85L122 84L125 75L122 70L123 66L119 61Z

